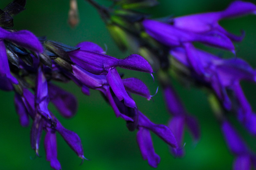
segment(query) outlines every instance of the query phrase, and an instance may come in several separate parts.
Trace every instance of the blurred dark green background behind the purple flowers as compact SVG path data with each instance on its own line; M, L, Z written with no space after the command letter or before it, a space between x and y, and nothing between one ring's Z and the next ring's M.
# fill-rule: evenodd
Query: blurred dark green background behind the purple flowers
M70 28L67 24L69 1L63 0L28 0L26 10L14 18L14 28L27 29L37 36L46 35L48 39L60 41L75 46L81 41L92 41L104 48L107 45L107 53L119 58L126 57L129 53L122 53L111 39L104 23L97 11L84 0L77 0L80 14L80 23L76 28ZM3 9L11 0L1 0L0 8ZM101 4L109 4L109 1L98 0ZM219 11L232 2L230 0L159 0L160 4L148 10L152 17L164 17L168 15L180 16L191 13ZM254 1L255 3L255 1ZM228 31L239 34L243 29L246 36L243 42L237 43L237 56L247 60L252 67L256 67L256 16L228 19L220 22ZM218 53L218 50L215 50ZM221 52L220 52L221 53ZM149 74L136 73L120 69L126 77L136 76L143 80L152 94L158 86L157 79L152 81ZM116 118L112 108L103 100L98 91L91 90L91 96L85 96L74 83L61 84L61 87L76 95L78 111L70 120L59 116L56 109L49 105L49 109L60 119L60 122L81 138L84 146L84 156L91 161L85 161L79 166L81 159L68 147L61 136L57 135L58 159L62 169L153 169L140 155L136 143L136 132L127 130L124 120ZM253 83L242 82L245 94L256 110L255 96L256 86ZM184 158L174 158L168 146L152 134L156 153L161 157L157 169L231 169L234 156L230 154L223 140L218 122L207 103L206 94L194 87L184 88L174 81L188 112L196 115L201 125L201 139L195 145L188 132L185 133L186 155ZM45 160L43 138L41 139L40 155L42 158L34 158L34 151L30 147L28 128L23 128L18 122L18 116L14 110L13 92L0 92L1 125L0 125L0 169L51 169L49 162ZM134 96L138 108L153 122L166 124L169 113L165 110L162 89L154 97L154 101ZM31 124L31 123L30 123ZM250 136L237 124L238 131L246 138L251 148L256 151L255 137Z

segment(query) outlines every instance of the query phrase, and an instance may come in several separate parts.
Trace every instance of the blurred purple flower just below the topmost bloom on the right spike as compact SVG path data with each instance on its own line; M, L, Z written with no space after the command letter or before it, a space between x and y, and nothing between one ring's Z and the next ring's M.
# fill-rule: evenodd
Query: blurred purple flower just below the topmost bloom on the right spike
M155 20L145 19L142 22L145 31L160 43L170 46L185 46L186 43L201 42L206 45L219 47L234 52L232 41L224 34L215 31L196 33L181 30L173 25Z

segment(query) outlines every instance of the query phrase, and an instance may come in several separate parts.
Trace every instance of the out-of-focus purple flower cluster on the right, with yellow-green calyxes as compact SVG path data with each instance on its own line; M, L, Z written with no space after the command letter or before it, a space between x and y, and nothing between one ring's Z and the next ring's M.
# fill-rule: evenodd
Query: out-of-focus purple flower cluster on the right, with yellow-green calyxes
M111 17L104 15L102 18L121 49L141 53L152 67L158 70L157 78L163 88L167 109L172 115L168 127L178 142L178 148L171 149L171 152L175 156L184 155L185 125L195 141L200 137L196 118L190 116L184 109L172 87L171 78L175 77L178 80L192 81L199 87L207 88L210 96L216 99L210 99L209 102L214 102L210 104L213 104L213 111L222 124L222 130L231 152L238 155L234 169L249 169L251 165L255 166L250 163L255 163L254 155L245 147L228 123L225 112L235 111L238 121L247 131L255 135L256 115L243 93L240 81L255 82L256 71L246 61L236 56L233 42L242 41L244 32L240 36L234 35L221 27L218 22L225 18L256 14L256 5L250 2L234 1L223 11L152 20L148 19L147 15L130 8L132 5L145 7L142 5L147 4L145 2L140 0L135 5L129 0L118 1L114 3L115 8L109 7L107 10L104 8L105 13L107 12ZM147 7L149 6L148 3ZM100 10L102 7L96 8L99 12L102 11ZM100 14L102 15L102 12ZM196 48L194 42L227 50L234 57L220 58ZM172 76L173 73L175 76Z

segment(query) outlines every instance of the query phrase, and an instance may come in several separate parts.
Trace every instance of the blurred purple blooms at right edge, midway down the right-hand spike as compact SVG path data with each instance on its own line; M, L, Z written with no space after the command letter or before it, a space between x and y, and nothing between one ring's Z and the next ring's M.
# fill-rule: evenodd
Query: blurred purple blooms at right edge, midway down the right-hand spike
M195 67L202 70L196 79L204 84L208 84L214 90L216 96L222 102L225 109L230 110L236 104L232 104L227 90L232 90L238 102L238 120L252 133L256 134L255 114L244 96L240 86L241 80L256 81L256 71L244 60L239 58L221 59L211 53L196 49L190 46L189 49L174 48L171 50L172 56L186 67L196 72ZM188 61L188 56L196 58L196 64L192 65Z

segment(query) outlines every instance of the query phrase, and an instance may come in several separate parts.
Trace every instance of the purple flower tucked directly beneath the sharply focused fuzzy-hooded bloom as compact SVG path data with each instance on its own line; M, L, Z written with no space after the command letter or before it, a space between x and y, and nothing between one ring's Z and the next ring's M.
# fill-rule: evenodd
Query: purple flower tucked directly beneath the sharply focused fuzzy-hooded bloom
M129 105L128 101L132 101L130 103L133 103L133 99L128 95L128 92L134 93L134 94L138 94L140 96L146 97L148 99L150 99L150 94L148 91L147 86L140 80L136 79L136 78L128 78L128 79L124 79L122 80L117 79L117 80L112 80L110 79L110 83L108 84L108 79L106 75L95 75L92 73L87 72L86 70L84 70L83 68L76 66L76 65L72 65L73 67L73 76L71 76L72 80L75 80L75 82L77 82L78 84L82 84L82 87L88 87L90 89L95 89L95 90L100 90L108 99L109 104L112 106L116 117L122 117L125 120L130 120L132 121L132 119L130 117L125 116L123 113L120 112L120 110L118 109L118 107L116 106L116 102L114 101L114 97L119 96L118 100L120 101L124 99L124 104L128 107L131 106L131 104ZM116 69L114 69L114 73ZM118 73L115 73L118 74ZM112 75L110 75L112 76ZM116 75L116 77L120 77L119 74ZM114 91L115 90L115 91ZM111 93L111 91L114 93ZM116 92L116 93L115 93ZM123 97L124 96L124 97ZM123 98L122 98L123 97ZM127 104L128 103L128 104ZM135 104L135 102L134 102ZM136 106L136 104L135 104ZM131 107L131 108L135 108L135 107Z

